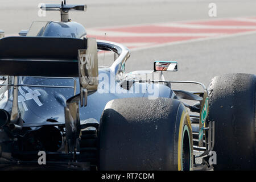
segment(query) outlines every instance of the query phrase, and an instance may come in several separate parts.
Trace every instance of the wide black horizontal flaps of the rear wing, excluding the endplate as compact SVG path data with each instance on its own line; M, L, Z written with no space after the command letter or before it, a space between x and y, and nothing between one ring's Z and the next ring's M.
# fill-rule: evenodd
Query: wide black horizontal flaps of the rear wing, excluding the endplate
M78 50L88 39L7 37L0 39L0 75L79 77Z

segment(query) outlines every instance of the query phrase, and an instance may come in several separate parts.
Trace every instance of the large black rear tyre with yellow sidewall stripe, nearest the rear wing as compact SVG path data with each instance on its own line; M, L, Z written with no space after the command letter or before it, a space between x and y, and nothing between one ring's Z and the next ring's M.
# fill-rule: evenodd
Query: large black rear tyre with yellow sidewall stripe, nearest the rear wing
M99 169L190 170L192 129L185 106L170 98L106 104L98 131Z

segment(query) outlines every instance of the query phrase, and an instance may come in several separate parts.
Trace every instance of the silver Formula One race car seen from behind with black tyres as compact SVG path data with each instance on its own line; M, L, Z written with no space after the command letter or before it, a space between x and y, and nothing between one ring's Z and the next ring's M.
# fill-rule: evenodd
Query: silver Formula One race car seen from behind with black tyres
M0 32L1 170L256 169L255 75L217 76L209 88L164 80L175 61L126 74L129 49L69 19L86 5L42 9L61 22ZM110 67L98 67L99 51L114 53Z

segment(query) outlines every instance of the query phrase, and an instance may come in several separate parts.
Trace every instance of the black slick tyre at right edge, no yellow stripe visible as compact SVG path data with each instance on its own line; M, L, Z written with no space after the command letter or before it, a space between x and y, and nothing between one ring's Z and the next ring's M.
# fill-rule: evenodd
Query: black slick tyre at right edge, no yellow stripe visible
M256 169L256 76L217 76L209 85L209 121L215 121L214 170Z

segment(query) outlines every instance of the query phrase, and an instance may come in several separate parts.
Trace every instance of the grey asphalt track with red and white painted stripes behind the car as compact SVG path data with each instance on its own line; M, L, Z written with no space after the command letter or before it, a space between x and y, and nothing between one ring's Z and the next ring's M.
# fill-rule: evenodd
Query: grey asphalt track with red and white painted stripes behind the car
M217 17L208 15L216 3ZM59 20L58 12L38 16L39 3L47 0L1 0L0 29L16 35L33 20ZM154 60L175 60L178 72L164 73L167 80L200 81L225 73L256 73L256 1L109 0L67 3L88 5L69 18L82 23L88 36L125 44L131 49L126 71L152 69ZM104 64L112 55L101 54ZM192 89L190 86L181 88ZM193 90L193 89L192 89Z

